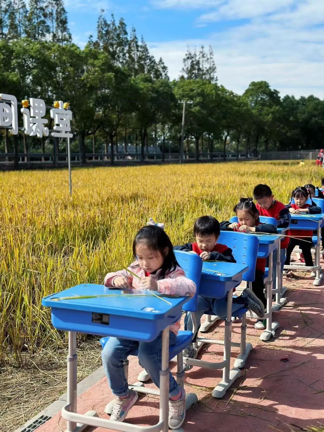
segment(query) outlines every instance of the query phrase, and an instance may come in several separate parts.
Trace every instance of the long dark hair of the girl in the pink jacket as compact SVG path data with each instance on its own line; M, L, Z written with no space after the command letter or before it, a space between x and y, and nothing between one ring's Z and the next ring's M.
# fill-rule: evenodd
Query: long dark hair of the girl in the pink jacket
M136 259L136 247L140 243L144 243L151 251L159 251L162 254L163 264L161 267L161 279L170 271L175 270L178 264L171 240L165 231L156 225L144 226L135 235L133 241L133 257ZM168 253L165 255L165 248L168 248ZM180 267L180 266L179 266Z

